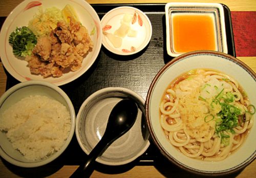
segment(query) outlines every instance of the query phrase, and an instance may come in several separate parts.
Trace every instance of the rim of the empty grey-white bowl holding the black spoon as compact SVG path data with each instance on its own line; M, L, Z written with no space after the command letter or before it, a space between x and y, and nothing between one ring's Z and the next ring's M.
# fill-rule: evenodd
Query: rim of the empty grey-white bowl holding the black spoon
M81 104L80 108L79 108L79 112L76 116L76 128L75 128L75 135L76 135L76 138L77 138L77 141L78 141L78 144L80 146L80 148L84 151L84 153L86 154L89 154L91 151L89 151L88 149L84 148L83 144L82 144L82 139L80 137L80 134L79 134L79 128L78 128L78 124L81 120L81 113L83 112L83 108L86 107L93 98L98 98L99 95L102 95L102 94L110 94L111 92L118 92L118 93L125 93L125 94L129 94L131 95L132 97L136 98L138 100L138 102L140 102L141 104L143 104L143 107L142 106L138 106L140 109L141 109L141 112L142 112L142 115L145 116L145 108L144 108L144 103L145 103L145 100L139 95L137 94L136 92L128 89L128 88L124 88L124 87L105 87L105 88L102 88L96 92L94 92L93 94L91 94L87 99L85 99L83 101L83 103ZM146 122L146 121L145 121ZM146 124L146 123L145 123ZM148 138L150 138L150 133L148 132ZM110 166L119 166L119 165L124 165L124 164L128 164L128 163L131 163L133 162L134 160L136 160L140 155L142 155L146 150L147 148L150 146L150 141L147 139L144 141L145 144L144 146L142 147L141 150L139 150L137 152L137 154L135 154L132 158L130 159L127 159L125 161L120 161L120 162L116 162L116 163L112 163L112 162L109 162L109 161L105 161L105 160L102 160L100 159L100 157L98 157L96 159L96 161L98 163L101 163L101 164L104 164L104 165L110 165Z

